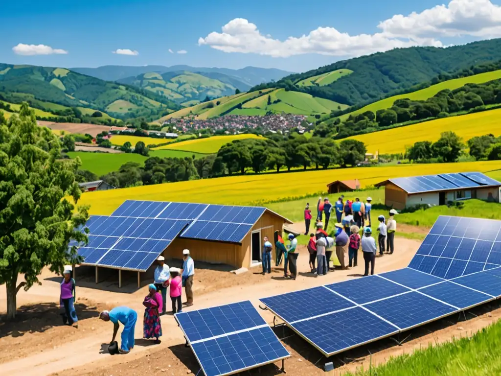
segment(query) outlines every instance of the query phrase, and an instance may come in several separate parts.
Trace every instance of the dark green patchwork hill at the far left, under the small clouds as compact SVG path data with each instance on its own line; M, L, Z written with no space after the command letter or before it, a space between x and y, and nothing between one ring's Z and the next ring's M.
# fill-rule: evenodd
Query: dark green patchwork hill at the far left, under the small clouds
M64 68L0 64L0 100L27 101L44 111L83 107L127 119L153 116L180 106L151 91L106 82Z

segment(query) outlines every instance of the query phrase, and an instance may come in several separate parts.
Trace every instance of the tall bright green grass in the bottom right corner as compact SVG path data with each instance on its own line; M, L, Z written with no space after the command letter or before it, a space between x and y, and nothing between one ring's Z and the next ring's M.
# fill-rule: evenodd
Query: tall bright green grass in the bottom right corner
M391 357L370 369L344 373L345 376L481 376L501 374L501 321L475 334L457 333L459 338L425 348L412 354Z

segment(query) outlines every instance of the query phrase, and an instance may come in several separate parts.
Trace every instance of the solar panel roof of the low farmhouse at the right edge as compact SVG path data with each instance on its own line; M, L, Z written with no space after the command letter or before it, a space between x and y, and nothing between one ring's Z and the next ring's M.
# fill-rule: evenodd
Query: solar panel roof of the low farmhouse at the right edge
M410 194L501 185L500 182L491 179L480 172L442 173L438 175L397 177L389 179L389 181L398 185Z

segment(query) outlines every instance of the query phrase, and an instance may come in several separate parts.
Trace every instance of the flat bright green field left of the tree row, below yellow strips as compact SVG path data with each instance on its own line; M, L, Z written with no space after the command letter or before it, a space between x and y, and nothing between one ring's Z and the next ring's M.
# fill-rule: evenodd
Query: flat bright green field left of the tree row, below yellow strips
M117 171L122 164L127 162L137 162L144 165L146 159L154 156L160 158L184 158L193 155L195 158L205 157L205 154L180 150L150 150L147 157L134 153L91 153L87 151L70 151L68 155L70 158L79 156L82 160L80 169L89 170L98 176Z

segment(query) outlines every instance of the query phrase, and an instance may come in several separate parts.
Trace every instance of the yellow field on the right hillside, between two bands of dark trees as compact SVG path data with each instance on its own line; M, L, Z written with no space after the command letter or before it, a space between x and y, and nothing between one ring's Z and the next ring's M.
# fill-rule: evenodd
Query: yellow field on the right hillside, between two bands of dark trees
M474 136L492 133L501 134L501 109L477 112L473 114L446 117L407 125L399 128L361 134L350 138L362 141L369 153L393 154L405 151L417 141L434 142L440 133L453 131L466 142Z

